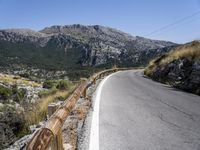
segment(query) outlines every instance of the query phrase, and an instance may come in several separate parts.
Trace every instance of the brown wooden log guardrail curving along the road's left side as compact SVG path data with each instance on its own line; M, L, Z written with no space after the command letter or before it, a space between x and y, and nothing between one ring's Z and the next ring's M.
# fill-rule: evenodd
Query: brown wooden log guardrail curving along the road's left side
M95 73L89 78L88 81L82 83L72 95L53 113L53 115L47 121L44 128L38 130L32 139L28 142L27 150L64 150L62 143L62 126L73 110L76 102L82 96L86 96L87 88L95 83L97 79L101 78L105 74L116 72L119 70L127 70L127 68L114 68Z

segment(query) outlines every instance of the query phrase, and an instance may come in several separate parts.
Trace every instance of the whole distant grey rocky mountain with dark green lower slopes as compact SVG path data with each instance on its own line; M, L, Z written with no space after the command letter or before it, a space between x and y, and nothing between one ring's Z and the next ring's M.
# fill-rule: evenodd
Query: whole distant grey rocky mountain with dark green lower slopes
M38 32L7 29L0 30L0 69L32 67L69 72L113 64L140 66L174 46L99 25L52 26Z

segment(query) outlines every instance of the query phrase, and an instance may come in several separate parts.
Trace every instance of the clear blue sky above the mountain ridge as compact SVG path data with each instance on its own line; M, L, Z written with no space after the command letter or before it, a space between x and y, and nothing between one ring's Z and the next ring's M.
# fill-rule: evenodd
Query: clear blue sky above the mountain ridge
M0 29L69 24L185 43L200 40L200 0L0 0Z

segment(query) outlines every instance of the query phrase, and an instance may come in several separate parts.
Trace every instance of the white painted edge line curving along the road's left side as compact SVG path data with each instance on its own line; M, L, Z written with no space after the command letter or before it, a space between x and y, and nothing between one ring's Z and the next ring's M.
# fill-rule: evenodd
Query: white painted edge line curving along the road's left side
M99 150L99 104L101 99L101 92L104 83L110 78L113 74L110 74L105 79L103 79L96 91L96 97L94 101L94 110L92 114L92 124L90 130L90 143L89 143L89 150Z

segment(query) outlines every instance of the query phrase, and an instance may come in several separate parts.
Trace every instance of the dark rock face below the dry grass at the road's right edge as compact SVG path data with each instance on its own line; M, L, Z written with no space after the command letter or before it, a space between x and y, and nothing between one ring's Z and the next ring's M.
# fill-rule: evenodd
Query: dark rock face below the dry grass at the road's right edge
M168 82L174 87L200 95L200 59L175 60L164 68L156 68L152 77L160 82Z

